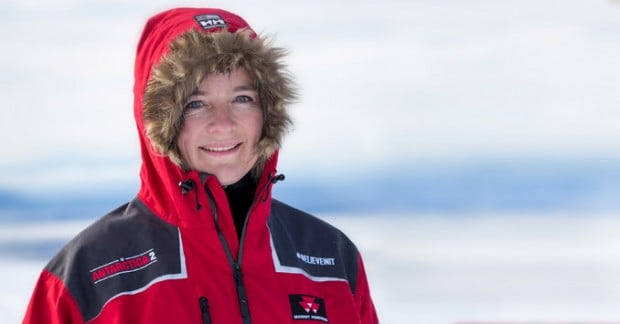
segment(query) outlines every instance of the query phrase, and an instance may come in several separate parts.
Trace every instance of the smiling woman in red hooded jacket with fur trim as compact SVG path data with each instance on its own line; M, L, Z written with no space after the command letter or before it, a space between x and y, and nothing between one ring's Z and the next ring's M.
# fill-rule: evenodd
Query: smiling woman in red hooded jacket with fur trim
M176 8L138 44L136 198L42 271L24 323L377 323L361 256L271 197L294 99L239 16Z

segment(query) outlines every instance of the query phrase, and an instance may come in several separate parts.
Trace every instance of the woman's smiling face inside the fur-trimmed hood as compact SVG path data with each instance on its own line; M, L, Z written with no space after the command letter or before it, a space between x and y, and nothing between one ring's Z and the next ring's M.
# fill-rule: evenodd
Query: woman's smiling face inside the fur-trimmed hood
M244 68L207 74L185 102L183 120L177 145L186 167L230 185L256 163L263 112Z

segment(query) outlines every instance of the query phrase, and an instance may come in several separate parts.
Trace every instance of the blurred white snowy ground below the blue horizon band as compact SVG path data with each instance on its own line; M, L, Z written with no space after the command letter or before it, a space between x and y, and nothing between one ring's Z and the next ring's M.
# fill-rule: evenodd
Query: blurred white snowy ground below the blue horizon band
M620 323L618 215L324 218L364 253L383 323ZM1 323L21 319L45 263L36 242L84 225L0 227Z

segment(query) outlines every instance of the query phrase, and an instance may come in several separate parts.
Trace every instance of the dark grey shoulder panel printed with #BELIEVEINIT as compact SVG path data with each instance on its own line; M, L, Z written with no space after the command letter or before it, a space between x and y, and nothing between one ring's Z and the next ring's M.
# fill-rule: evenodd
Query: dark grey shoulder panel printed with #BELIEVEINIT
M358 250L340 230L275 199L268 226L277 272L313 281L347 281L355 293Z

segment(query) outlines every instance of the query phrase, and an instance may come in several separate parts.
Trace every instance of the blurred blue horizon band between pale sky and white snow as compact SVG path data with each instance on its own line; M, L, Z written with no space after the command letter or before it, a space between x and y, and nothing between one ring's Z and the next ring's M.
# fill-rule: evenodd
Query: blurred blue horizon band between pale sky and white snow
M395 165L364 174L287 173L274 197L310 213L620 212L620 160L484 160ZM24 183L24 186L29 184ZM0 187L0 221L97 218L132 199L135 182L38 190Z

